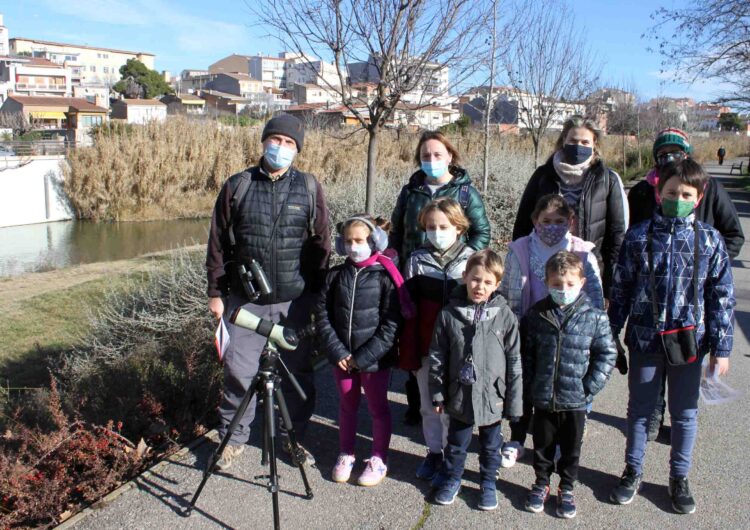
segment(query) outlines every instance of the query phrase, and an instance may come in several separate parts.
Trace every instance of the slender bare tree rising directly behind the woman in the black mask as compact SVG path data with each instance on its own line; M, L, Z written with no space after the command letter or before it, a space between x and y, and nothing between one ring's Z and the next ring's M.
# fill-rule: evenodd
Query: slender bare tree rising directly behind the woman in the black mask
M564 0L523 3L524 31L505 55L505 74L518 104L519 127L528 130L539 163L539 144L555 121L581 112L599 66ZM566 16L561 16L565 13Z

